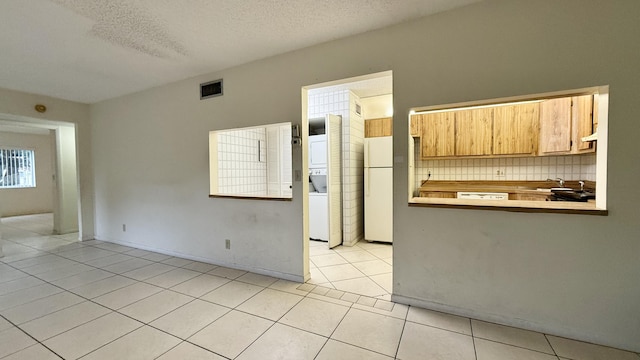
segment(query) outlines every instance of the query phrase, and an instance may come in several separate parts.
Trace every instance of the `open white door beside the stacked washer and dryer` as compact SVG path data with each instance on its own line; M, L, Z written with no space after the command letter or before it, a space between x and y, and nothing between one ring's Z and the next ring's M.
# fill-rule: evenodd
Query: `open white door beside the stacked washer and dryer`
M342 244L342 118L327 115L327 200L329 203L329 248Z

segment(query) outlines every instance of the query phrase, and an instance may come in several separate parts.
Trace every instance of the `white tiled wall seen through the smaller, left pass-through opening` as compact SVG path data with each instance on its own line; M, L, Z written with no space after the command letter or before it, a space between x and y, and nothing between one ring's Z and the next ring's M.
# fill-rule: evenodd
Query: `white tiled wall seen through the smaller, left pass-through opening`
M266 196L266 154L264 128L218 133L218 192Z

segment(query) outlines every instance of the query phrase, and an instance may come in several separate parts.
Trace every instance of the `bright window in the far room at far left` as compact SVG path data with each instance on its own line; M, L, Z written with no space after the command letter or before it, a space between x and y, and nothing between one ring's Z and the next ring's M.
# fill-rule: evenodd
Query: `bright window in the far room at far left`
M0 148L0 189L36 187L33 150Z

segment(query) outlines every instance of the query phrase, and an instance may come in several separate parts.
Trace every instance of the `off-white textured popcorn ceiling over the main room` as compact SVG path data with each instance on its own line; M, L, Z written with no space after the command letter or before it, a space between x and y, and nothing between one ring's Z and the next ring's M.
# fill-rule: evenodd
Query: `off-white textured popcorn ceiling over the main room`
M479 0L2 0L0 88L83 103Z

